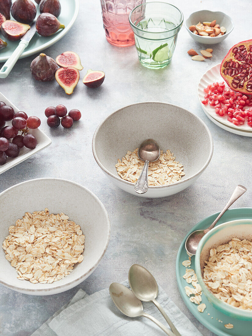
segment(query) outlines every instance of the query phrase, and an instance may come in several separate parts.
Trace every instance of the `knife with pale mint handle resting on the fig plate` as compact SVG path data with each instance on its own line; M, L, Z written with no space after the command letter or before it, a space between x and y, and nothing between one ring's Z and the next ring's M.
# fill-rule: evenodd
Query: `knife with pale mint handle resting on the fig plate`
M28 30L28 32L25 33L25 35L21 38L21 41L19 42L16 49L13 51L12 55L4 63L2 69L0 70L0 78L6 78L9 75L12 68L16 64L16 61L18 60L19 56L28 46L29 42L31 41L35 33L36 33L36 23L34 23Z

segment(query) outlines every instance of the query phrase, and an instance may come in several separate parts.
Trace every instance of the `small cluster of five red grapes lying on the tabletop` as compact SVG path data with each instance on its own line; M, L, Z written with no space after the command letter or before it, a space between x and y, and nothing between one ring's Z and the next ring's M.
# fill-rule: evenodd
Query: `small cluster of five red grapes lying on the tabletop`
M56 128L61 123L64 128L71 128L74 121L81 119L81 113L79 110L74 109L69 111L68 116L67 112L68 110L64 105L59 104L56 107L49 106L45 109L47 125L51 128Z

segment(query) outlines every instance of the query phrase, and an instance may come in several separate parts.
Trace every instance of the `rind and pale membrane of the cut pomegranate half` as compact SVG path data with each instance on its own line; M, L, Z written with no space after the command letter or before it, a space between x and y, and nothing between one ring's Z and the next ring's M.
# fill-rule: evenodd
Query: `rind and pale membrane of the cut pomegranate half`
M232 89L233 91L241 92L241 93L244 93L244 94L252 94L252 52L249 51L251 53L251 56L248 58L247 64L246 64L247 66L245 68L244 68L244 63L242 63L241 61L238 61L238 60L236 60L234 58L234 53L233 53L234 48L239 48L239 46L241 46L241 45L244 45L245 49L247 51L249 49L252 50L252 40L241 41L241 42L233 45L233 47L230 48L230 50L228 51L228 53L226 54L226 56L223 58L223 60L221 62L221 65L220 65L220 75L224 79L224 81L227 83L227 85L230 87L230 89ZM242 68L239 68L239 69L242 69L242 70L248 69L247 74L249 76L248 76L248 79L246 81L244 81L243 87L239 88L239 84L238 84L237 87L234 87L233 86L234 83L232 85L234 77L239 77L239 76L237 76L238 74L234 75L234 76L230 76L228 74L226 74L226 75L224 74L224 70L226 69L226 67L224 67L224 64L225 64L225 62L230 62L230 61L234 61L234 64L238 63L239 65L243 66ZM241 83L240 78L239 78L239 83ZM250 86L249 90L247 89L247 84L249 84L249 86Z

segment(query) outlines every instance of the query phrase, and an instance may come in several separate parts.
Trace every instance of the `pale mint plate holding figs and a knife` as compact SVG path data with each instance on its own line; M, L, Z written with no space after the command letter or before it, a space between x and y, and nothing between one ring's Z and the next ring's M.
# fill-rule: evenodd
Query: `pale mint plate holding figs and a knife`
M36 2L35 1L33 2L37 8L37 16L35 18L36 20L40 12L38 10L38 5L36 4ZM46 48L56 43L64 35L67 34L67 32L73 26L77 18L79 12L79 0L60 0L60 4L61 4L61 13L58 17L58 20L60 23L65 25L65 28L60 29L57 33L48 37L40 36L38 33L35 33L28 47L25 49L25 51L19 58L24 58L36 54L37 52L44 51ZM12 17L11 19L13 20ZM5 62L13 53L20 40L11 42L3 38L2 35L0 35L0 37L8 44L6 48L0 50L0 62ZM59 50L59 54L64 51L66 50Z

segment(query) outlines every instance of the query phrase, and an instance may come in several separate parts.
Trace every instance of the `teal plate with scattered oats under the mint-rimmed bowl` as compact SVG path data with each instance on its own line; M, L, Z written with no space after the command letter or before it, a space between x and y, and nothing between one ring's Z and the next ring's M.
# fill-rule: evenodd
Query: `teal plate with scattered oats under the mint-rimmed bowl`
M201 220L198 224L196 224L192 230L188 233L190 234L194 230L205 229L207 228L214 219L218 216L219 212L211 215L203 220ZM230 220L236 219L252 219L252 208L237 208L237 209L229 209L224 215L220 218L216 225L228 222ZM185 294L184 287L190 286L183 279L183 275L185 274L186 268L182 265L182 261L188 259L188 255L186 254L186 250L184 247L185 240L187 236L184 238L177 254L176 260L176 277L180 295L184 300L187 308L191 311L191 313L196 317L196 319L202 323L207 329L214 332L218 336L251 336L252 335L252 322L249 321L241 321L233 318L229 318L225 314L221 313L219 310L215 309L210 302L207 301L207 298L204 294L202 294L202 302L206 304L206 309L203 313L200 313L197 309L198 305L192 303L189 297ZM191 268L195 270L194 264L194 256L192 257ZM209 314L209 315L208 315ZM213 317L213 319L212 319ZM219 322L222 321L221 322ZM234 325L233 329L226 329L224 324L232 323Z

